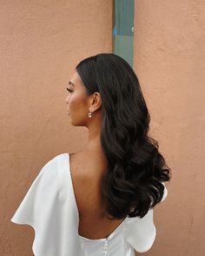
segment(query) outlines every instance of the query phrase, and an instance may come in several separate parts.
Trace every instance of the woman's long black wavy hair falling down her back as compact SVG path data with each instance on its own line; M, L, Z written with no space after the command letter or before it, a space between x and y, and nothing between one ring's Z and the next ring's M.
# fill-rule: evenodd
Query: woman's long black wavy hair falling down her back
M113 53L87 57L76 71L87 94L98 91L102 98L101 145L109 162L102 178L105 215L142 218L162 200L170 169L148 135L150 116L136 73Z

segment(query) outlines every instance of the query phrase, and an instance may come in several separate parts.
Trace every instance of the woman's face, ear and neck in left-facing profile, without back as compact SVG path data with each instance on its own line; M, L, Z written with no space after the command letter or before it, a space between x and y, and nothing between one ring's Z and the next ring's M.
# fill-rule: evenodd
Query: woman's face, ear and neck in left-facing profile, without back
M100 145L100 132L102 127L102 98L99 92L90 96L86 95L86 88L77 71L74 71L68 84L68 96L65 102L68 104L69 120L71 125L86 126L89 129L89 140L84 150L90 152L102 152ZM75 85L73 85L75 84ZM89 111L92 117L89 118Z

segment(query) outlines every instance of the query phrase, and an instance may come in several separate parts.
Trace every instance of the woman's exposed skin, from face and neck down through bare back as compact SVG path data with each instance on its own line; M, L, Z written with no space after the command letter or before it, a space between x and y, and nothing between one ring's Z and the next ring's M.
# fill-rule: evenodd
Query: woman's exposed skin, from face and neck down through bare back
M69 83L67 87L70 91L65 98L69 121L71 125L85 126L89 129L87 145L81 152L69 154L70 172L72 172L80 215L78 232L89 239L99 239L113 232L123 220L100 217L104 205L99 186L102 174L108 165L100 143L102 98L99 92L86 95L86 87L77 71L74 71L69 82L71 84ZM89 111L92 112L91 118L88 117Z

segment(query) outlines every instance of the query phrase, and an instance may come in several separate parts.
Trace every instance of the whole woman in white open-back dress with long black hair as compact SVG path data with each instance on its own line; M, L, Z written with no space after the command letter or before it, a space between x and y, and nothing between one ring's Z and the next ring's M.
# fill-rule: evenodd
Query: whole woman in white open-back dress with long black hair
M148 135L136 74L122 57L102 53L77 64L67 90L70 123L89 129L88 144L44 165L11 221L35 229L36 256L146 252L170 170Z

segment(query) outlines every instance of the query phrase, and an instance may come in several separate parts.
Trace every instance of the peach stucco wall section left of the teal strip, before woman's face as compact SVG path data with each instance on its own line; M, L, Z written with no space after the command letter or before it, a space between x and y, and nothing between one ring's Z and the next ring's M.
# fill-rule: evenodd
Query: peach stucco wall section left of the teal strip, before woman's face
M0 255L29 256L34 231L10 218L43 165L87 141L69 124L66 83L83 57L112 51L112 1L0 5Z

